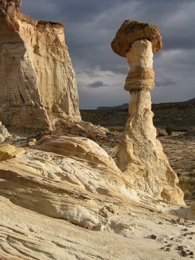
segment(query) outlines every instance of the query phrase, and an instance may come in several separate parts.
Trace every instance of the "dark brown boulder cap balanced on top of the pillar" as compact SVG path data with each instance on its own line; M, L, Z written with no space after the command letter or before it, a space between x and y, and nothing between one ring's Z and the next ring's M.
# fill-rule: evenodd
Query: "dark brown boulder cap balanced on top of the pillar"
M126 57L132 43L146 38L152 42L152 52L157 52L163 47L159 28L154 24L147 24L136 20L125 20L118 29L115 38L111 43L113 52Z

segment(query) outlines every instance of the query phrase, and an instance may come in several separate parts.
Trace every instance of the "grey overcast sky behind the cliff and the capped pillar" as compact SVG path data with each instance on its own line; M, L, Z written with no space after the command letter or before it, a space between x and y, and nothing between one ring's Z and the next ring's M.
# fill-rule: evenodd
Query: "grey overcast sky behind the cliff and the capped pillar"
M124 20L156 24L164 48L154 53L152 103L195 97L194 0L23 0L20 11L62 22L77 78L80 109L129 103L127 59L110 47Z

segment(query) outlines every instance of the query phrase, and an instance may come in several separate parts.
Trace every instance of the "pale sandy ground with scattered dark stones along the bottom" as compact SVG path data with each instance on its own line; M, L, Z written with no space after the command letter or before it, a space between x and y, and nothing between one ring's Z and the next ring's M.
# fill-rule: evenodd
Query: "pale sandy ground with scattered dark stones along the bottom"
M177 260L183 259L181 250L187 258L194 257L195 217L185 220L162 213L164 209L180 216L188 208L163 203L158 207L121 206L104 230L90 231L1 197L0 259Z

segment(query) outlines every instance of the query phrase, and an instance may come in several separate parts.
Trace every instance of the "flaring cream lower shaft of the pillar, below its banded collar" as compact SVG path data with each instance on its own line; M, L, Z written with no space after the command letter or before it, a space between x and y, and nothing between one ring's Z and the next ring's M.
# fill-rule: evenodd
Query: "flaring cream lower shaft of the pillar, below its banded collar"
M117 166L136 189L171 203L184 205L178 176L168 163L152 124L150 91L131 92L131 117L116 154ZM134 113L132 114L132 111Z

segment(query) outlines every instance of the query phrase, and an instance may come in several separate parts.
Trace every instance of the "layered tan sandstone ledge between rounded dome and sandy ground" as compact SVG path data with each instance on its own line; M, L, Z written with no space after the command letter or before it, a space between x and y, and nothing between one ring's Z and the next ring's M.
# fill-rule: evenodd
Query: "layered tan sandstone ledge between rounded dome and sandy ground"
M110 164L92 164L73 155L31 150L0 163L2 196L16 205L87 229L108 222L99 215L103 196L110 201L131 202L133 193L122 173Z

